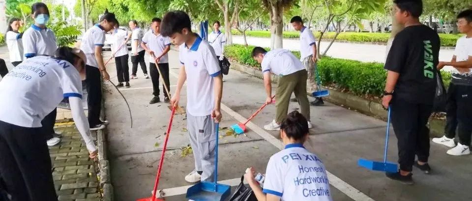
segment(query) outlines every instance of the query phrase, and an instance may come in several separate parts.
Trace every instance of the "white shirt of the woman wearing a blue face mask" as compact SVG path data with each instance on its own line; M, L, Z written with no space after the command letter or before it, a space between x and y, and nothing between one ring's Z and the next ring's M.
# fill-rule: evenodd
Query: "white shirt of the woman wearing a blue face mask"
M31 25L23 33L23 48L25 58L39 55L54 56L58 49L56 35L51 29L41 29L36 25Z

